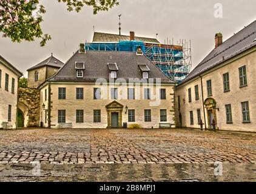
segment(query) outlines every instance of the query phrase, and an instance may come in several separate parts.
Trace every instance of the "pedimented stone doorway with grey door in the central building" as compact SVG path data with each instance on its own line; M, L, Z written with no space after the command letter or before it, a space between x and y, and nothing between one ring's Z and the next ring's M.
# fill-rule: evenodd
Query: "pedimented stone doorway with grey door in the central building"
M107 128L122 128L122 112L123 105L119 102L113 101L110 104L106 105L107 109ZM114 118L115 117L115 118ZM116 121L117 119L117 121ZM116 124L113 123L116 121Z

